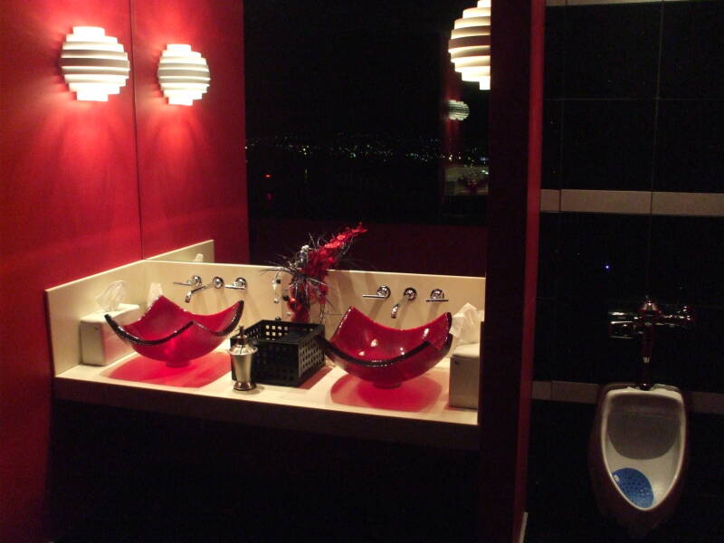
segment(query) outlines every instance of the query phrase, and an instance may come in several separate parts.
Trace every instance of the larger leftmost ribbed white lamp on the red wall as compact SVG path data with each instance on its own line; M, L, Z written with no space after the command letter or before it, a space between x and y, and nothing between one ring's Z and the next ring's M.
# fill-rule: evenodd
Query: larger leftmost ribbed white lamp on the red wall
M78 100L107 101L129 79L129 55L98 26L73 26L61 52L61 71Z

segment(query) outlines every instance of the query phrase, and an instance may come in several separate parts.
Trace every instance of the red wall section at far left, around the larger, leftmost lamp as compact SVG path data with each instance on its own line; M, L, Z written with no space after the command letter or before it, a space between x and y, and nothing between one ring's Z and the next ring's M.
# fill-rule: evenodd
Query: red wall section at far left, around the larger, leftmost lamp
M58 68L71 26L102 26L128 50L129 23L124 0L3 4L3 541L47 540L51 365L43 290L141 256L132 81L108 102L82 102Z

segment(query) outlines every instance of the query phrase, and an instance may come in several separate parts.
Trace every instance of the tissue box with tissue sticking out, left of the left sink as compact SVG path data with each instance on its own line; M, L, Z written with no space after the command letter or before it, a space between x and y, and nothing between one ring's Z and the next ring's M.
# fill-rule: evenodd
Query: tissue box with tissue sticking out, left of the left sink
M141 309L136 304L121 303L119 310L108 312L120 324L140 319ZM81 362L92 366L108 366L125 357L133 348L110 329L104 315L98 311L81 319Z

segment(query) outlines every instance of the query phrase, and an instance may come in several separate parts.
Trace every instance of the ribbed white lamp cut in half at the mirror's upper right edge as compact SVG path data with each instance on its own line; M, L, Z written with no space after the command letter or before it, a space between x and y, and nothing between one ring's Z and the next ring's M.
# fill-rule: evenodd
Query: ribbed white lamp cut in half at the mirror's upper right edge
M462 12L452 28L448 52L462 81L477 81L481 90L491 88L491 0Z

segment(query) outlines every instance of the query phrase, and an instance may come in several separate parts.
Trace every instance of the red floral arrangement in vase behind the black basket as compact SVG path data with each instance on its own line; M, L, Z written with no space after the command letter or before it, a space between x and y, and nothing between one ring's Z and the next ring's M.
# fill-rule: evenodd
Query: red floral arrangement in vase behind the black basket
M329 269L337 267L357 235L365 232L367 228L360 223L356 228L345 228L327 243L312 239L309 245L303 245L299 252L276 268L291 275L289 291L282 298L287 302L292 322L309 322L314 302L319 303L320 313L323 314L329 293L329 286L324 280Z

